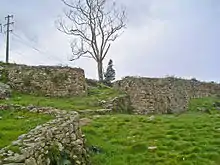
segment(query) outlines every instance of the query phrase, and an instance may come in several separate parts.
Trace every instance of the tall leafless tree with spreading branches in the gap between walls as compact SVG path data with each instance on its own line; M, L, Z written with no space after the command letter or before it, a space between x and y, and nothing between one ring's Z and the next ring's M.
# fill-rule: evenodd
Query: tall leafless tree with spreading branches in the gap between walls
M111 0L61 0L67 7L65 19L58 21L58 30L74 36L73 57L92 58L97 63L99 81L103 81L103 60L111 43L125 28L126 14ZM67 23L65 20L68 20Z

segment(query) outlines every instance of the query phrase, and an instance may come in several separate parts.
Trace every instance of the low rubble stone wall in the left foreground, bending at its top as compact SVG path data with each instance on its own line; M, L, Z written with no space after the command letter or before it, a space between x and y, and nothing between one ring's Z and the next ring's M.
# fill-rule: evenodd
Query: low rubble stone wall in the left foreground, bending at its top
M55 160L62 161L66 165L89 164L78 113L33 106L0 106L0 109L8 108L52 114L56 119L37 126L29 133L19 136L10 146L0 150L0 165L53 165ZM17 147L18 151L11 151L11 146Z

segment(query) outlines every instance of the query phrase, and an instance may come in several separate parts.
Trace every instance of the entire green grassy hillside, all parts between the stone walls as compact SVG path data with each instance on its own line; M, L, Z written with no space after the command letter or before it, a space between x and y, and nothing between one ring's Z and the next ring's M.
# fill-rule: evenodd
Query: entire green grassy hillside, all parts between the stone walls
M98 85L90 87L86 97L50 98L14 92L12 98L1 100L0 103L32 104L64 110L100 109L100 100L108 100L120 94ZM90 148L92 164L219 165L220 110L213 106L216 101L220 100L193 99L188 112L181 115L89 116L91 123L82 129ZM0 120L0 148L48 120L47 116L16 113L0 111L0 116L3 116ZM17 119L16 116L26 117Z

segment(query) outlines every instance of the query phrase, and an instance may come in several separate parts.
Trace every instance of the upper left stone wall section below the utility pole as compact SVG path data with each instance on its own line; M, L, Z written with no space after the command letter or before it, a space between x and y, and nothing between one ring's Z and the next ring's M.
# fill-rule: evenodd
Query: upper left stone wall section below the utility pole
M1 79L12 89L46 96L81 96L87 93L84 71L59 66L1 65Z

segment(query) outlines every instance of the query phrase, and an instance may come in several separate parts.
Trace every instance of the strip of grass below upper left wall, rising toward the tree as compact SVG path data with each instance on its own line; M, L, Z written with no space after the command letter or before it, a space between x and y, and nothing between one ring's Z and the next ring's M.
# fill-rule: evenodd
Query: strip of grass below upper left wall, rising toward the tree
M69 98L55 98L33 96L28 94L21 94L14 92L9 100L0 100L1 103L20 104L20 105L36 105L36 106L49 106L64 110L85 110L85 109L100 109L102 108L98 101L114 98L120 93L111 88L100 86L90 88L88 96L84 97L69 97Z

